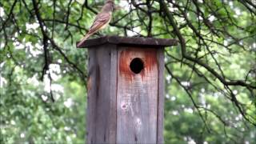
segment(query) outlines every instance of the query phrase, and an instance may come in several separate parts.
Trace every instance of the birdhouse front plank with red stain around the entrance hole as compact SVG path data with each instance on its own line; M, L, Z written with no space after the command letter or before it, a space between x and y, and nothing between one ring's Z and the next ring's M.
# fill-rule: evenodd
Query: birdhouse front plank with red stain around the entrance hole
M141 58L144 69L130 70ZM118 49L117 143L156 143L158 113L158 49Z

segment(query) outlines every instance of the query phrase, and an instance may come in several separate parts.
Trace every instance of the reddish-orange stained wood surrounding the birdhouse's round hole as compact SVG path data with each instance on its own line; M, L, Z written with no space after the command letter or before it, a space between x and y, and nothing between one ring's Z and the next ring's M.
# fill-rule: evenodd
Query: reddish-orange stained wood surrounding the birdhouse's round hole
M146 73L150 73L153 70L154 66L158 66L158 50L154 48L129 48L122 50L119 57L119 73L123 75L128 81L134 79L133 71L130 70L130 62L134 58L142 59L144 64L143 70L139 73L142 75L142 79Z

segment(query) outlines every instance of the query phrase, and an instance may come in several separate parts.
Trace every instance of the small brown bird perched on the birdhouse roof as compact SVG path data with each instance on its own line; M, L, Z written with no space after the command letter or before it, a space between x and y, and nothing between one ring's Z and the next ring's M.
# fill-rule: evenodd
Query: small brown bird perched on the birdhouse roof
M106 0L105 5L102 7L100 13L97 14L93 24L90 26L88 33L78 42L78 47L82 45L92 34L97 33L98 30L104 29L110 23L112 12L114 10L113 0Z

